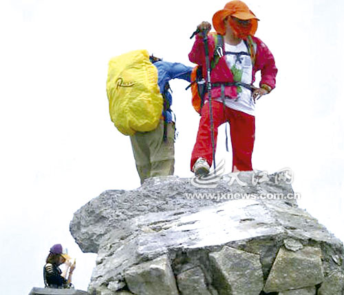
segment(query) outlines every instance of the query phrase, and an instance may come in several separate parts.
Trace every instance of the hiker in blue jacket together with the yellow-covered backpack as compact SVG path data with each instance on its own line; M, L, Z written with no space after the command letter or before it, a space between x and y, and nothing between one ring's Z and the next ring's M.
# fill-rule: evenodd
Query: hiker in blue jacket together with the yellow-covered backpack
M141 184L174 172L175 121L169 81L191 82L192 67L149 56L146 50L112 58L107 76L111 120L129 135Z

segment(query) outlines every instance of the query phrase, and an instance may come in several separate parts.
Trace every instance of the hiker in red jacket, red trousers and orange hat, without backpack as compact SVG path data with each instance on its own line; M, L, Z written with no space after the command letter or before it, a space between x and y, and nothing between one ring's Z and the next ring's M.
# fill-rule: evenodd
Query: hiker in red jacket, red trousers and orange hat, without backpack
M191 170L195 175L208 174L216 148L217 128L226 121L230 123L232 171L252 170L255 103L259 97L275 88L277 75L275 59L270 50L254 36L257 21L255 14L244 2L230 1L223 10L213 15L216 34L208 34L211 29L208 22L204 21L197 26L199 33L196 35L189 59L202 66L203 75L206 77L204 36L207 36L208 58L211 61L213 118L210 115L209 102L205 100L191 156ZM258 88L253 86L257 71L261 71ZM204 96L204 99L207 98L208 93Z

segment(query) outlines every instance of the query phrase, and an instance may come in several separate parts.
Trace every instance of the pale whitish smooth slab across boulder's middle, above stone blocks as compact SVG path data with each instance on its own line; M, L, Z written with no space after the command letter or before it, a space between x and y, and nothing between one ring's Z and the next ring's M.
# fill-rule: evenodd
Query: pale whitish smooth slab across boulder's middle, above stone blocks
M186 252L188 258L193 259L189 266L192 268L200 265L204 255L202 249L219 250L226 243L239 247L253 244L248 241L257 238L261 251L266 253L264 244L283 235L283 228L254 200L230 201L197 213L149 213L122 226L126 226L123 227L126 237L122 238L122 231L116 230L103 239L89 285L90 293L109 281L120 281L118 275L126 268L167 252L172 255ZM267 261L270 264L266 269L270 269L273 260ZM178 268L178 263L173 263L173 268Z

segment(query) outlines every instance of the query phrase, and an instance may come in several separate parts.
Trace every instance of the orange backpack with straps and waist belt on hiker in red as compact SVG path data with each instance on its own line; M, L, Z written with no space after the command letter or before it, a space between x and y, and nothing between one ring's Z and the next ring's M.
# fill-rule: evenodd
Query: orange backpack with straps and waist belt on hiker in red
M211 70L213 70L221 58L222 55L226 54L224 51L224 38L222 35L211 33L215 41L214 56L211 59ZM248 48L248 54L250 54L252 64L255 64L257 45L252 40L251 36L248 36L247 40L244 40L246 47ZM220 84L231 85L231 86L243 86L252 89L252 86L241 82L224 82L224 83L213 83L212 86L219 86ZM191 72L191 84L186 88L191 87L191 103L197 113L201 113L202 106L204 105L204 95L206 94L206 79L203 76L202 66L197 65Z

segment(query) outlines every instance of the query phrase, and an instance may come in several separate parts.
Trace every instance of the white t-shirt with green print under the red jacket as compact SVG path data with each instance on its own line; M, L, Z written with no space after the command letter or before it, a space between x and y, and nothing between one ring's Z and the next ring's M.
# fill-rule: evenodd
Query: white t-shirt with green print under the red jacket
M226 52L236 52L236 53L246 53L246 54L226 54L226 62L228 68L232 71L234 75L234 80L236 82L244 82L246 84L252 83L252 60L248 49L241 40L238 45L224 44L224 49ZM248 88L239 86L237 88L237 98L230 99L226 97L225 104L229 108L234 110L241 110L241 112L247 113L249 115L255 115L255 102L251 97L251 91ZM222 102L221 97L217 97L215 100Z

